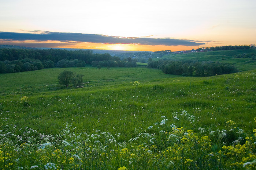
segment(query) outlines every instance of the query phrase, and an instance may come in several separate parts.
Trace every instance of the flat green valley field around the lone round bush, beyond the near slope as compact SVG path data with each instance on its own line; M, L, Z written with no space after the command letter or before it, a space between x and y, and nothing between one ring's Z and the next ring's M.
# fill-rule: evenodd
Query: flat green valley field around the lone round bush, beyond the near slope
M81 67L81 68L53 68L31 72L0 74L0 94L32 94L62 89L57 77L64 70L77 74L84 74L85 86L115 86L130 84L136 80L148 82L158 78L179 77L170 74L163 74L161 70L143 67L107 69L103 67Z

